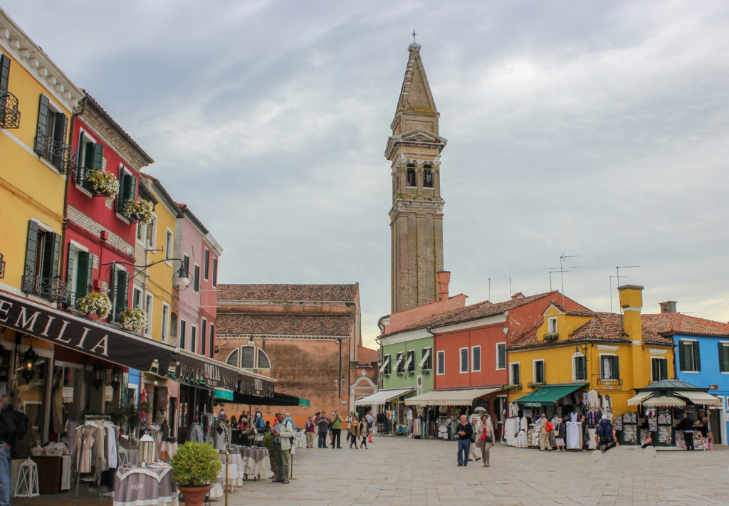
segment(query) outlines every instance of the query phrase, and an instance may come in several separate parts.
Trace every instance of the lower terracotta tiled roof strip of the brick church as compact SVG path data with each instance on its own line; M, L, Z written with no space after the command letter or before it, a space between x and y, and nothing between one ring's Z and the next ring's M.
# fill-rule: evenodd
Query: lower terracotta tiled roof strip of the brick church
M347 336L354 328L352 315L219 313L216 333L290 335L292 337Z

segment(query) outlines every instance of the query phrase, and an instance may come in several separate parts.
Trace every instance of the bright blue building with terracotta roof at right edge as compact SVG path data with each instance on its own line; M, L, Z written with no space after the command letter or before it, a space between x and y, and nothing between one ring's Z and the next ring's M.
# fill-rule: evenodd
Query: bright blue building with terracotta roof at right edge
M674 301L661 303L660 310L660 314L644 314L643 323L673 338L677 380L708 388L709 394L720 398L722 405L709 407L706 414L714 443L725 445L729 433L729 324L677 313Z

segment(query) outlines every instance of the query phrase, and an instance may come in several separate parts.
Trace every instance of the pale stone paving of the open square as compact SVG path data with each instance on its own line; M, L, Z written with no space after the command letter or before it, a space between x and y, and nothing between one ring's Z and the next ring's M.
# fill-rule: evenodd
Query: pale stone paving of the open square
M368 450L301 449L288 485L246 481L230 505L726 505L729 450L540 452L497 445L456 466L456 443L374 437ZM212 503L216 504L216 503ZM222 499L217 502L222 505Z

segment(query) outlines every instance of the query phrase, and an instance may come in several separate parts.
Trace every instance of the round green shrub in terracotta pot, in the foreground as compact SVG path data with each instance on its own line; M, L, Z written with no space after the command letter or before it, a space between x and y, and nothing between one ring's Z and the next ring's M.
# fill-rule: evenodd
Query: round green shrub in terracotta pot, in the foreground
M218 451L208 443L188 441L177 448L172 457L172 479L182 491L185 506L203 506L220 467Z

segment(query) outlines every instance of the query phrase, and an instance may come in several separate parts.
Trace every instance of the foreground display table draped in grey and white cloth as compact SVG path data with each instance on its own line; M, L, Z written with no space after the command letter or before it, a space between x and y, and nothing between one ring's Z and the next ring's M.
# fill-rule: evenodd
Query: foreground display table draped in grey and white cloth
M114 480L114 506L178 506L171 470L167 464L120 467Z

